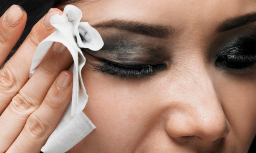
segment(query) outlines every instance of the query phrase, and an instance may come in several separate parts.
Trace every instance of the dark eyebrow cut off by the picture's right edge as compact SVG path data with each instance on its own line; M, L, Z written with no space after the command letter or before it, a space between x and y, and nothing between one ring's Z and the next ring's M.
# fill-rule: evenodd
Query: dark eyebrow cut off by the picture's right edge
M240 17L236 18L231 18L224 23L222 23L218 28L218 32L224 32L227 30L232 30L237 27L245 26L247 24L253 23L256 21L256 12L250 13L250 14L245 14Z

